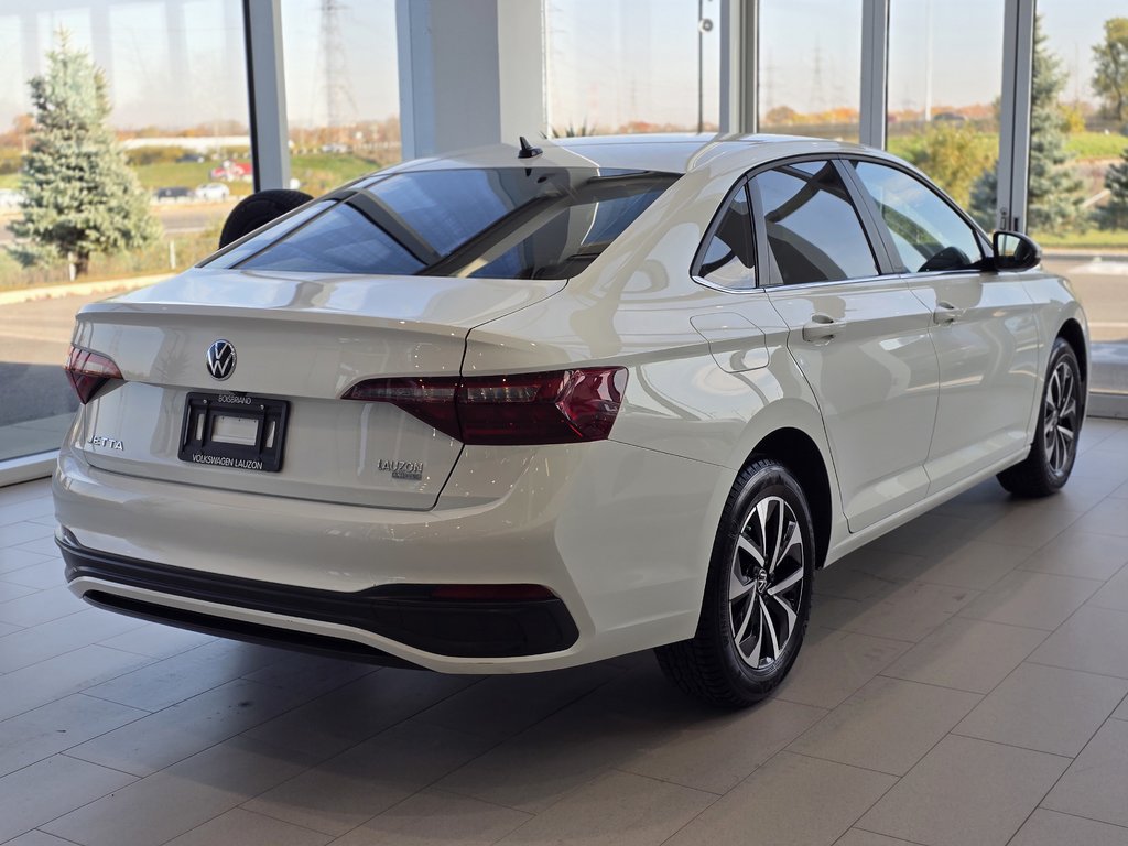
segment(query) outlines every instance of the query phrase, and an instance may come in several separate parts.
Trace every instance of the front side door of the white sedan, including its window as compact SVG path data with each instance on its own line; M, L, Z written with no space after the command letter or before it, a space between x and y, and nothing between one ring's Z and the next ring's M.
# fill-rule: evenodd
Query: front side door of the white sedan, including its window
M917 177L854 160L909 288L932 314L940 408L926 469L932 491L1021 450L1037 394L1038 327L1016 274L986 273L971 224Z

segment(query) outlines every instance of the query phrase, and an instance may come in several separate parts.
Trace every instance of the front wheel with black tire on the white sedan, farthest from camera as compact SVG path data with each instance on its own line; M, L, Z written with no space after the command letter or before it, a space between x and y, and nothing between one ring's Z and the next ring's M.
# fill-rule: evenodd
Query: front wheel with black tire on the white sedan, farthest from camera
M1046 370L1038 426L1030 455L998 474L1015 496L1049 496L1069 481L1077 459L1077 438L1085 416L1084 382L1077 354L1064 338L1054 342Z

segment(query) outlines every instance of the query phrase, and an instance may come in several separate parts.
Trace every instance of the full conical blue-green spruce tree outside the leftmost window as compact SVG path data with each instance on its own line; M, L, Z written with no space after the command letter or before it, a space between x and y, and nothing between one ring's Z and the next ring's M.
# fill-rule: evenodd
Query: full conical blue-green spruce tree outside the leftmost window
M33 78L35 126L24 158L24 217L11 253L24 265L63 258L86 273L95 253L138 249L159 232L149 199L106 125L106 78L60 33L46 73Z

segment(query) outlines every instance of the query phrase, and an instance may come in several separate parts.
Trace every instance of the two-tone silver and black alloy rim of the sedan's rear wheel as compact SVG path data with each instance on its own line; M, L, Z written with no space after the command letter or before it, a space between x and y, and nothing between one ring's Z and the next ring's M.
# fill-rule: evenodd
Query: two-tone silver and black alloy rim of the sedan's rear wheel
M737 537L729 578L729 620L737 652L769 669L795 632L803 597L803 532L779 496L756 502Z

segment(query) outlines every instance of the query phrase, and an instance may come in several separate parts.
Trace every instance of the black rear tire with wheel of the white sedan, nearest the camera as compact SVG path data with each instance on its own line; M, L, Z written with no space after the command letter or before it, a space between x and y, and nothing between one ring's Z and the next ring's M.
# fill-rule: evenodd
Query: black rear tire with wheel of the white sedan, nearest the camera
M766 531L760 527L760 503L765 503ZM776 518L783 521L782 528ZM801 540L797 547L788 541L788 527ZM776 543L779 534L784 535L782 544ZM739 552L738 538L748 541ZM774 557L768 553L783 546L784 555L769 573L767 566L757 563L755 554L746 552L748 545L759 548L767 565ZM755 459L737 477L724 506L697 633L689 641L655 650L666 676L687 694L723 707L746 707L772 693L791 670L803 644L811 611L814 555L814 523L803 490L783 465L768 458ZM796 573L801 575L794 581ZM788 581L793 581L790 587L772 593ZM731 598L731 590L738 593L737 599ZM746 613L751 615L747 619ZM763 626L765 614L774 625L770 631L760 628L754 638L751 627ZM748 636L738 645L741 628Z

